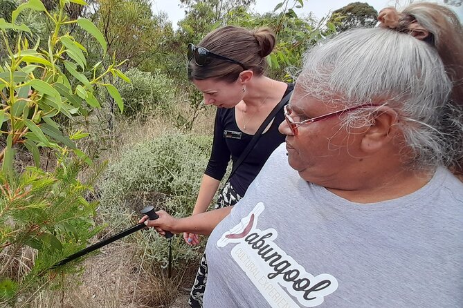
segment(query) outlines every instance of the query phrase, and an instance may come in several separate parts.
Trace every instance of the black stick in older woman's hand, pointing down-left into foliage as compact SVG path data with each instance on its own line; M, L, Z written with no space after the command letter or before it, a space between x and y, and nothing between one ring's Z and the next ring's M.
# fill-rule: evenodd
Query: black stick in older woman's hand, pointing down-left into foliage
M156 220L159 218L158 214L156 214L156 211L154 211L153 206L146 206L145 209L141 210L140 213L143 215L148 215L149 220ZM141 230L145 228L145 224L142 222L140 224L136 224L134 227L130 227L129 229L126 229L124 231L121 231L117 233L116 235L111 236L110 238L107 238L106 240L102 240L96 244L93 244L85 249L82 249L81 251L78 251L76 253L73 253L71 256L64 258L60 262L56 263L51 267L52 269L55 269L56 267L60 267L61 265L64 265L66 263L71 262L72 260L75 260L77 258L80 258L82 256L85 256L87 253L91 253L92 251L96 251L96 249L99 249L103 246L106 246L107 244L110 244L116 240L119 240L120 238L124 238L125 236L134 233L138 230ZM174 236L173 233L166 231L165 232L165 238L172 238Z

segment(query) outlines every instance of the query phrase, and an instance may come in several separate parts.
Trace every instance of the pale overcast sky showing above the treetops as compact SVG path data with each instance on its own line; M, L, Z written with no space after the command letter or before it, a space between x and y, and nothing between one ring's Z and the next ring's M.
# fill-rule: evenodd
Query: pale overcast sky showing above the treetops
M302 15L309 12L314 12L316 18L321 19L329 14L330 11L342 8L348 3L355 2L358 0L304 0L304 8L295 8L294 11L298 15ZM365 0L361 0L363 2ZM441 2L442 0L434 0L435 2ZM282 2L282 0L256 0L256 4L252 8L254 12L264 13L271 12L275 6ZM387 6L393 6L396 1L394 0L366 0L370 6L373 6L375 10L379 11L381 8ZM402 0L399 3L407 3L408 1ZM157 13L160 11L166 12L174 29L177 28L176 23L183 19L185 12L179 7L179 0L152 0L152 10ZM293 1L289 1L293 3ZM459 8L453 7L453 10L460 15L460 21L463 19L463 6Z

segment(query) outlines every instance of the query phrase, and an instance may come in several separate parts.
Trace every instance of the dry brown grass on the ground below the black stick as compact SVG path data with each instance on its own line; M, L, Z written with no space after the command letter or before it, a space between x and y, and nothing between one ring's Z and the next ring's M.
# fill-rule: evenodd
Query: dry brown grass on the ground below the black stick
M185 296L185 291L179 291L179 287L185 276L192 276L192 273L174 272L173 278L167 278L163 269L143 268L136 258L138 248L135 244L118 243L105 247L98 256L84 262L82 273L65 278L64 291L39 293L28 307L172 307L177 298ZM195 269L194 265L188 268ZM186 302L174 305L187 307Z

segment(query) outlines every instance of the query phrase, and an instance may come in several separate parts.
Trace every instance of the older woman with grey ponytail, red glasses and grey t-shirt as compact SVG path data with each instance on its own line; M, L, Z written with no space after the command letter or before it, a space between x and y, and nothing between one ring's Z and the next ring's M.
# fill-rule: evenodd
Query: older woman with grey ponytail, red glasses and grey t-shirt
M463 307L462 26L380 21L307 53L239 206L146 222L210 233L204 307Z

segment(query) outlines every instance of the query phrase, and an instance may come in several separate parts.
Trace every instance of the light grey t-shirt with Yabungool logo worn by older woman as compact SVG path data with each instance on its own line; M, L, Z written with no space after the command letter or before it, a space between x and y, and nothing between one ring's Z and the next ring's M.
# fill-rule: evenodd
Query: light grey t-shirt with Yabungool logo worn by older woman
M284 144L206 248L204 307L463 307L463 184L358 204L302 180Z

